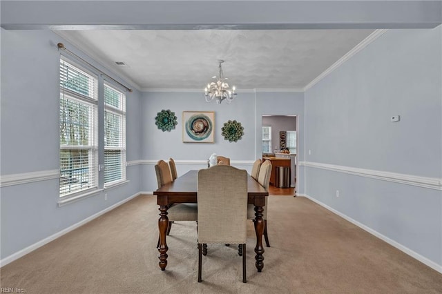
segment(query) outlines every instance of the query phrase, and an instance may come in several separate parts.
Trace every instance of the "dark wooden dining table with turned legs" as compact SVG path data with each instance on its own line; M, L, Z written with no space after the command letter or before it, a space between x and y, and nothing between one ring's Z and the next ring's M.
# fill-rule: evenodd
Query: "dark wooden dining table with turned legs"
M213 193L216 193L216 191L213 191ZM160 210L160 218L158 219L160 242L157 249L160 253L158 256L158 259L160 259L159 266L164 271L167 266L167 251L169 250L166 243L166 231L169 224L167 209L174 203L198 203L198 170L189 170L173 182L155 190L153 195L157 195L157 205L160 206L158 208ZM264 219L262 219L262 211L264 210L263 206L265 206L265 197L268 195L267 190L256 179L253 179L250 175L247 177L247 201L248 204L255 206L253 224L256 233L255 266L258 272L261 272L264 268L264 247L262 246Z

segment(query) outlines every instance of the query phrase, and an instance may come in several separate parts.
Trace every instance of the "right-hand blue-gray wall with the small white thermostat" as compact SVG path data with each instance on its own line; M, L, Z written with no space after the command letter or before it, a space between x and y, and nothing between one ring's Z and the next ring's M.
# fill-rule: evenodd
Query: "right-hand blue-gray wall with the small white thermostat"
M301 163L308 197L439 271L441 30L389 30L307 90Z

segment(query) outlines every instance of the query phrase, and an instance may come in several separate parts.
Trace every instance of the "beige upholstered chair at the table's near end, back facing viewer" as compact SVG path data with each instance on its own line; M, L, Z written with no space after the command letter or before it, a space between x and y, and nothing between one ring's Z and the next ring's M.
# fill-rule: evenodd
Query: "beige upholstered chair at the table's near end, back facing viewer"
M198 172L198 282L202 281L202 246L240 244L242 282L246 283L247 171L217 165Z

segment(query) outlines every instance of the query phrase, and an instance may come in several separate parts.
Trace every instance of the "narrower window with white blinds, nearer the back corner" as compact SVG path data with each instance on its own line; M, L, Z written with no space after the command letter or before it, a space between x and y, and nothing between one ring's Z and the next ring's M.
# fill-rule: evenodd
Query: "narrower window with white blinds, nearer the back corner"
M126 179L126 96L104 84L104 185Z

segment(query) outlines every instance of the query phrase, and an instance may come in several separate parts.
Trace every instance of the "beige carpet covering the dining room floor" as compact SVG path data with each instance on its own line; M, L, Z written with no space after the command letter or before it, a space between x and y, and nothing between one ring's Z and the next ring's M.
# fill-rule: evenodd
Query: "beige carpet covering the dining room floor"
M279 211L279 213L277 213ZM262 273L249 226L247 277L236 246L209 245L197 282L195 224L168 237L158 267L156 199L140 196L1 268L26 293L442 293L442 275L304 197L269 198Z

